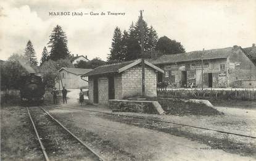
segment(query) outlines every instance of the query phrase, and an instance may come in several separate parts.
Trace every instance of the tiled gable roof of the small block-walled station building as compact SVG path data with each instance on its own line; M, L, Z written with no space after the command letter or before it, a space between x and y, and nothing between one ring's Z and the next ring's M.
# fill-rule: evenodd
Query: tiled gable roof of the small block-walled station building
M125 71L126 69L131 68L134 65L138 65L140 63L141 63L141 59L137 59L137 60L133 60L133 61L129 61L129 62L121 62L121 63L116 63L116 64L102 65L100 67L94 68L94 70L86 73L83 76L102 75L102 74L107 74L107 73L121 73L121 72ZM147 62L146 60L145 60L145 64L148 65L149 67L152 67L155 70L158 70L159 72L163 73L162 69Z

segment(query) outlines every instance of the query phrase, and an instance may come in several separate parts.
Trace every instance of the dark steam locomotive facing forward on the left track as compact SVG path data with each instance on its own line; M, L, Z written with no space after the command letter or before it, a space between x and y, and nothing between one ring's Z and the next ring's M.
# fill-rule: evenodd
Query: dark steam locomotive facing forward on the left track
M43 104L44 102L44 84L40 75L30 73L21 78L20 99L23 105Z

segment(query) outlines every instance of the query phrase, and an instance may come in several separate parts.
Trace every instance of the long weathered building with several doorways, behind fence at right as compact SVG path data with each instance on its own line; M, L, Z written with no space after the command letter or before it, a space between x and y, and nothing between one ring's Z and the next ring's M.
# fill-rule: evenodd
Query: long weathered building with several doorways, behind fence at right
M239 46L163 55L150 62L165 71L159 82L177 87L256 87L255 65Z

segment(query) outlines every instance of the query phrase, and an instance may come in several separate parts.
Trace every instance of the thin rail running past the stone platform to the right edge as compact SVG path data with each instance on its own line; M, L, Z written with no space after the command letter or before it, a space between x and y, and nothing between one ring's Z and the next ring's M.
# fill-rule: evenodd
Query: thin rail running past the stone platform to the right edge
M66 106L65 106L65 108L68 108L68 109L78 109L78 108L66 107ZM78 109L78 110L86 110L86 109ZM228 131L215 130L215 129L211 129L211 128L204 128L204 127L193 126L193 125L186 125L186 124L182 124L182 123L168 122L168 121L163 121L163 120L157 120L157 119L154 119L154 118L144 118L144 117L139 117L139 116L131 116L131 115L123 115L123 114L113 114L113 113L110 113L110 112L101 112L101 111L97 111L97 110L86 110L86 111L98 112L98 113L108 114L108 115L121 115L121 116L124 116L124 117L139 118L139 119L144 119L144 120L151 120L151 121L154 121L154 122L171 123L173 125L187 126L187 127L191 127L191 128L199 128L199 129L202 129L202 130L216 131L218 133L233 134L233 135L236 135L236 136L242 136L242 137L256 139L256 136L250 136L250 135L246 135L246 134L237 134L237 133L232 133L232 132L228 132Z

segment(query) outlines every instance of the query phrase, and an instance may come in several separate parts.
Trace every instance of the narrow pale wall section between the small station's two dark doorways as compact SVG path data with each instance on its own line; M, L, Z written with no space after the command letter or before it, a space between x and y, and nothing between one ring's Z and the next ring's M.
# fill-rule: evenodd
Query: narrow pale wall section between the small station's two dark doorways
M107 104L109 101L109 80L102 76L98 79L99 104Z

